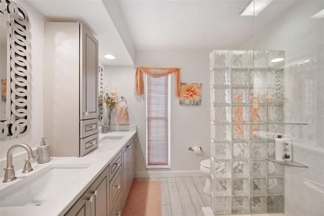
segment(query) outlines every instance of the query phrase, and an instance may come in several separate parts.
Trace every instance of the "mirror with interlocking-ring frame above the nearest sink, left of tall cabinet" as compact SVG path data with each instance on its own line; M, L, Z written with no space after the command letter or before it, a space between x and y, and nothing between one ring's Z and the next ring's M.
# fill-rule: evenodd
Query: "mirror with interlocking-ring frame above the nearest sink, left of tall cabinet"
M7 68L2 79L0 140L22 137L30 130L30 35L26 11L12 0L0 0L7 24ZM4 15L4 16L3 16ZM2 67L0 67L3 70ZM1 74L4 71L0 71Z

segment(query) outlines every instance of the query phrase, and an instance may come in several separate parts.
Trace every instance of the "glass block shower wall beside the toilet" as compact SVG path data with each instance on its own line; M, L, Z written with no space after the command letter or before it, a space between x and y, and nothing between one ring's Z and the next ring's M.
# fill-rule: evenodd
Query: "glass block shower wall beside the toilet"
M252 50L210 55L215 215L284 212L284 167L268 161L275 157L274 138L284 134L284 56Z

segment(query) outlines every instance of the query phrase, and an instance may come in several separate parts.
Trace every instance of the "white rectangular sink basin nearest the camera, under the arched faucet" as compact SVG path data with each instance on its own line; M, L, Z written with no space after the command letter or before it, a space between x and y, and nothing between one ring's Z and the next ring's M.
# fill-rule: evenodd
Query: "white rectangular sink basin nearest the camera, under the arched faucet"
M60 193L91 164L55 164L0 191L0 207L42 205ZM34 171L33 171L34 172Z

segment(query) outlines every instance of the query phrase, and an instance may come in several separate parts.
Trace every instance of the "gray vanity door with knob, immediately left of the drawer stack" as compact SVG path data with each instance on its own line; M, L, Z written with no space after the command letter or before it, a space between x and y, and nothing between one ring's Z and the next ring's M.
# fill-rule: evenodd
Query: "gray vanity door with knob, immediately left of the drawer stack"
M109 199L109 168L107 167L90 186L93 202L91 203L91 215L108 215Z

